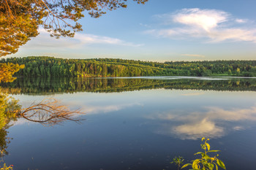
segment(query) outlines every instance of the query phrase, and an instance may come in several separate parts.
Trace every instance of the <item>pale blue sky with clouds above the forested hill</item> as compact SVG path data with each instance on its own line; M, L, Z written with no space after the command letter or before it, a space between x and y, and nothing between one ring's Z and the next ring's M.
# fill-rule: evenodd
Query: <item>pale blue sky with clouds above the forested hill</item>
M126 9L86 15L83 31L39 36L10 57L123 58L141 61L256 60L255 0L128 0Z

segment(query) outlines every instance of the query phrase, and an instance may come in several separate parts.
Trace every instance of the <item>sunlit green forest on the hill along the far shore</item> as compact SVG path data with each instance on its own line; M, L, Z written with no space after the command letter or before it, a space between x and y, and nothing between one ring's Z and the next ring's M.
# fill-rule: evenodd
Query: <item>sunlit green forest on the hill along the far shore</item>
M17 77L138 77L243 76L256 77L256 61L150 62L116 58L4 58L0 63L25 64Z

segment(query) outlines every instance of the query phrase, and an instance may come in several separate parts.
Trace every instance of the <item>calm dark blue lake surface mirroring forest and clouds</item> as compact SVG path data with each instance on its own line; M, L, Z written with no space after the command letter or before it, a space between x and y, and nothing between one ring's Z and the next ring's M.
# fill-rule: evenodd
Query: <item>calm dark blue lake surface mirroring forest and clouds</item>
M5 87L24 107L53 97L86 112L82 124L13 123L5 161L17 170L176 169L171 159L197 158L203 136L227 169L255 169L253 78L18 79Z

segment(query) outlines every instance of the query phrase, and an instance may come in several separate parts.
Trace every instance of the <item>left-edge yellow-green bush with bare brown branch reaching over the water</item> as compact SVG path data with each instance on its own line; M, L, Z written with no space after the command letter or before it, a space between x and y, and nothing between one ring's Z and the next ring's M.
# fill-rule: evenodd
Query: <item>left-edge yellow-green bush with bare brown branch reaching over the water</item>
M10 138L7 137L7 129L18 118L25 118L42 125L57 125L66 120L79 123L82 119L74 117L78 114L82 114L82 112L78 110L71 111L67 106L59 104L59 101L53 98L45 99L22 109L17 100L8 96L7 93L3 93L0 88L0 150L3 153L2 155L8 154L7 147Z

